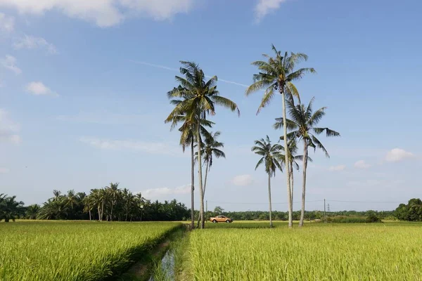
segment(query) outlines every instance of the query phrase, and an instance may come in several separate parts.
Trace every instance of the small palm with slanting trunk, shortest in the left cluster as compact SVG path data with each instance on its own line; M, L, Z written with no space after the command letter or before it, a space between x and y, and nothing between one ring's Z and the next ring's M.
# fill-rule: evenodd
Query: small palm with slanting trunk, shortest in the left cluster
M204 160L203 164L205 164L205 180L204 180L204 190L203 195L205 197L205 189L207 188L207 176L208 171L210 171L212 166L212 156L214 155L216 158L223 157L226 158L226 154L220 149L224 148L224 143L220 143L217 141L217 138L221 135L219 131L215 133L210 133L208 136L205 136L205 142L203 143L203 155ZM199 218L198 218L198 225L199 225Z

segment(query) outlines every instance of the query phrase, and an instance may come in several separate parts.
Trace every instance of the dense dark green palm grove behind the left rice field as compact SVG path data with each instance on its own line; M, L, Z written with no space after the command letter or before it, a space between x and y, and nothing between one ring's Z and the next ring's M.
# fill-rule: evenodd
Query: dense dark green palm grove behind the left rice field
M127 188L118 188L110 183L104 188L85 192L69 190L62 194L53 190L53 197L42 206L32 204L24 207L15 196L0 195L0 221L15 218L46 220L89 220L89 221L184 221L190 210L177 200L164 203L151 202L141 193L133 194Z

